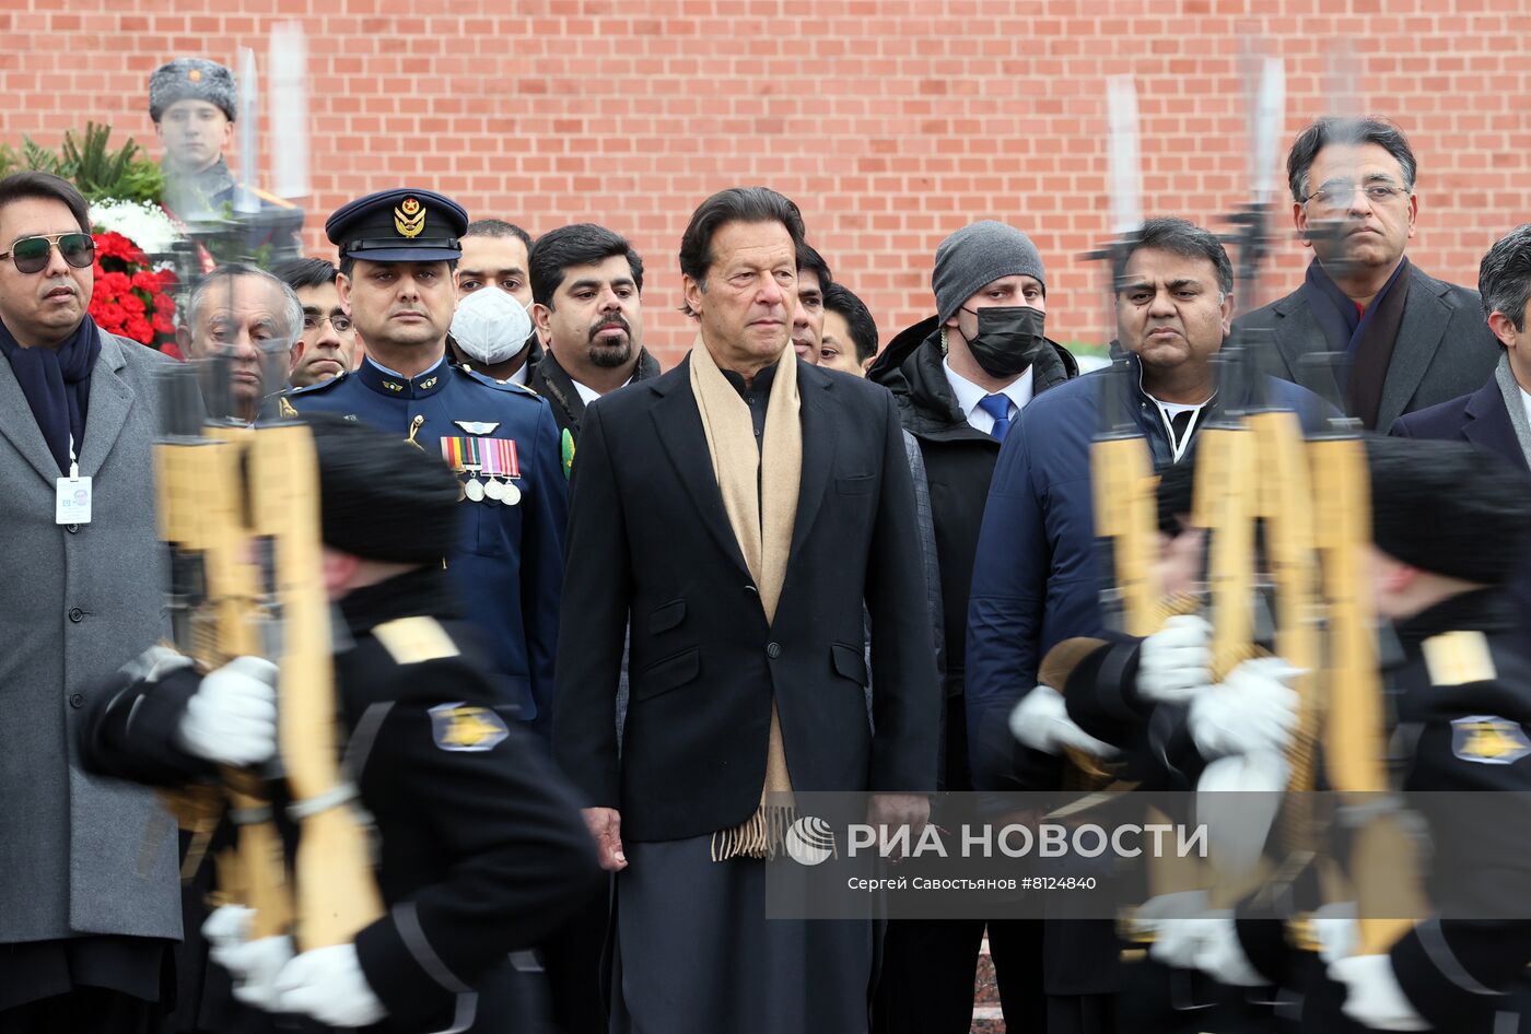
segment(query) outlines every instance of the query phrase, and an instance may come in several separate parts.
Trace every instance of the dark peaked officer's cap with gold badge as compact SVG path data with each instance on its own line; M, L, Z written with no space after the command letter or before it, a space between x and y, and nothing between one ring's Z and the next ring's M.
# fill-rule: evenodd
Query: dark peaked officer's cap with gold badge
M348 258L366 262L456 262L468 213L430 190L384 190L341 205L325 222L325 236Z

